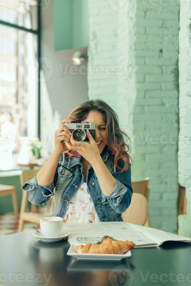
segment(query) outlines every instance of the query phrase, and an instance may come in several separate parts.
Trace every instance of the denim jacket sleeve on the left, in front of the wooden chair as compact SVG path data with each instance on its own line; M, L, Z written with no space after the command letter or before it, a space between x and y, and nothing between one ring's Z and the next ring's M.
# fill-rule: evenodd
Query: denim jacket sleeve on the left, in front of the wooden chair
M53 182L47 186L40 186L37 184L37 173L34 177L27 181L21 189L28 191L28 200L33 205L40 205L46 203L51 196L54 196L53 190L58 179L58 167L56 168Z

